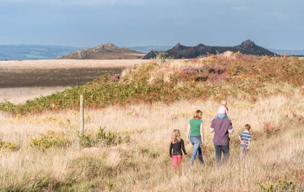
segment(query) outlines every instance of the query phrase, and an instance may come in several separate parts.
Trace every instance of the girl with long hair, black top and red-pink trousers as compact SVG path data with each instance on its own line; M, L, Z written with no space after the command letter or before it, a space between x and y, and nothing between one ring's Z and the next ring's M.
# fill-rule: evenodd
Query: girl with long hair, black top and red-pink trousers
M178 129L173 130L171 143L170 143L170 158L173 159L173 171L175 171L178 162L178 169L181 170L181 159L182 159L182 152L183 149L185 156L187 157L187 153L185 150L184 140L181 139L181 133ZM173 153L172 153L173 150Z

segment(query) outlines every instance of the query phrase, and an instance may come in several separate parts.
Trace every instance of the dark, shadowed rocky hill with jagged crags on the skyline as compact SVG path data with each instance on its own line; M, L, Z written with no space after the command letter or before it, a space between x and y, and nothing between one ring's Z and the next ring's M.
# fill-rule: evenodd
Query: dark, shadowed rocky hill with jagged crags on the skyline
M208 46L204 44L188 47L178 43L166 52L168 53L168 56L173 56L175 59L181 59L182 57L190 59L196 58L201 55L206 55L206 52L209 52L210 54L216 54L216 51L218 51L219 53L223 53L225 51L240 51L243 54L275 55L275 53L269 51L268 49L264 49L260 46L257 46L256 44L254 44L253 41L250 41L249 39L242 42L240 45L233 47ZM157 53L158 51L150 51L147 55L143 57L143 59L154 58Z

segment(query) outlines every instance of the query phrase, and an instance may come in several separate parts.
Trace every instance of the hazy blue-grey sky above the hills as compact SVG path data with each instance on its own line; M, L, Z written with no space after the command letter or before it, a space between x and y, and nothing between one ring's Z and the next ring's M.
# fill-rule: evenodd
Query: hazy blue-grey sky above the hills
M0 0L0 45L304 49L303 0Z

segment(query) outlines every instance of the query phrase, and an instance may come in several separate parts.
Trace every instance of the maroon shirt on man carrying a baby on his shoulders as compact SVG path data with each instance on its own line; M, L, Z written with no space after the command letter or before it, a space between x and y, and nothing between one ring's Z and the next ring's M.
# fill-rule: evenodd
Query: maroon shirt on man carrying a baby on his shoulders
M215 145L228 145L230 141L228 134L233 131L230 119L214 118L209 129L214 131L213 143Z

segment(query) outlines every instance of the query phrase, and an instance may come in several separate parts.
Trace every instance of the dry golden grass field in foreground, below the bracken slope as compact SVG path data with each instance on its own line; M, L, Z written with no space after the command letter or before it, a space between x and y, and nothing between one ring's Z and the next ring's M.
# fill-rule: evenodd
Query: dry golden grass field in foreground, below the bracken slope
M288 180L298 180L297 191L301 191L303 104L299 89L259 98L255 104L229 100L229 118L234 128L234 134L230 135L231 157L220 168L215 166L213 134L208 131L219 105L212 100L87 109L86 132L96 132L98 126L105 126L107 130L128 131L131 136L130 144L96 146L101 150L90 154L80 153L78 142L44 152L28 146L30 137L47 130L64 133L78 130L76 111L28 116L0 113L0 138L20 148L1 152L0 189L29 191L36 186L33 191L258 191L259 182L286 176ZM184 157L181 173L173 173L168 154L171 131L179 129L185 139L188 120L196 109L203 111L206 165L200 166L196 160L188 168L189 157ZM245 124L252 127L253 141L249 158L239 161L237 137ZM191 154L192 146L187 145L186 150ZM42 181L45 184L39 188L37 184ZM52 183L56 182L66 188L54 187L56 184Z

